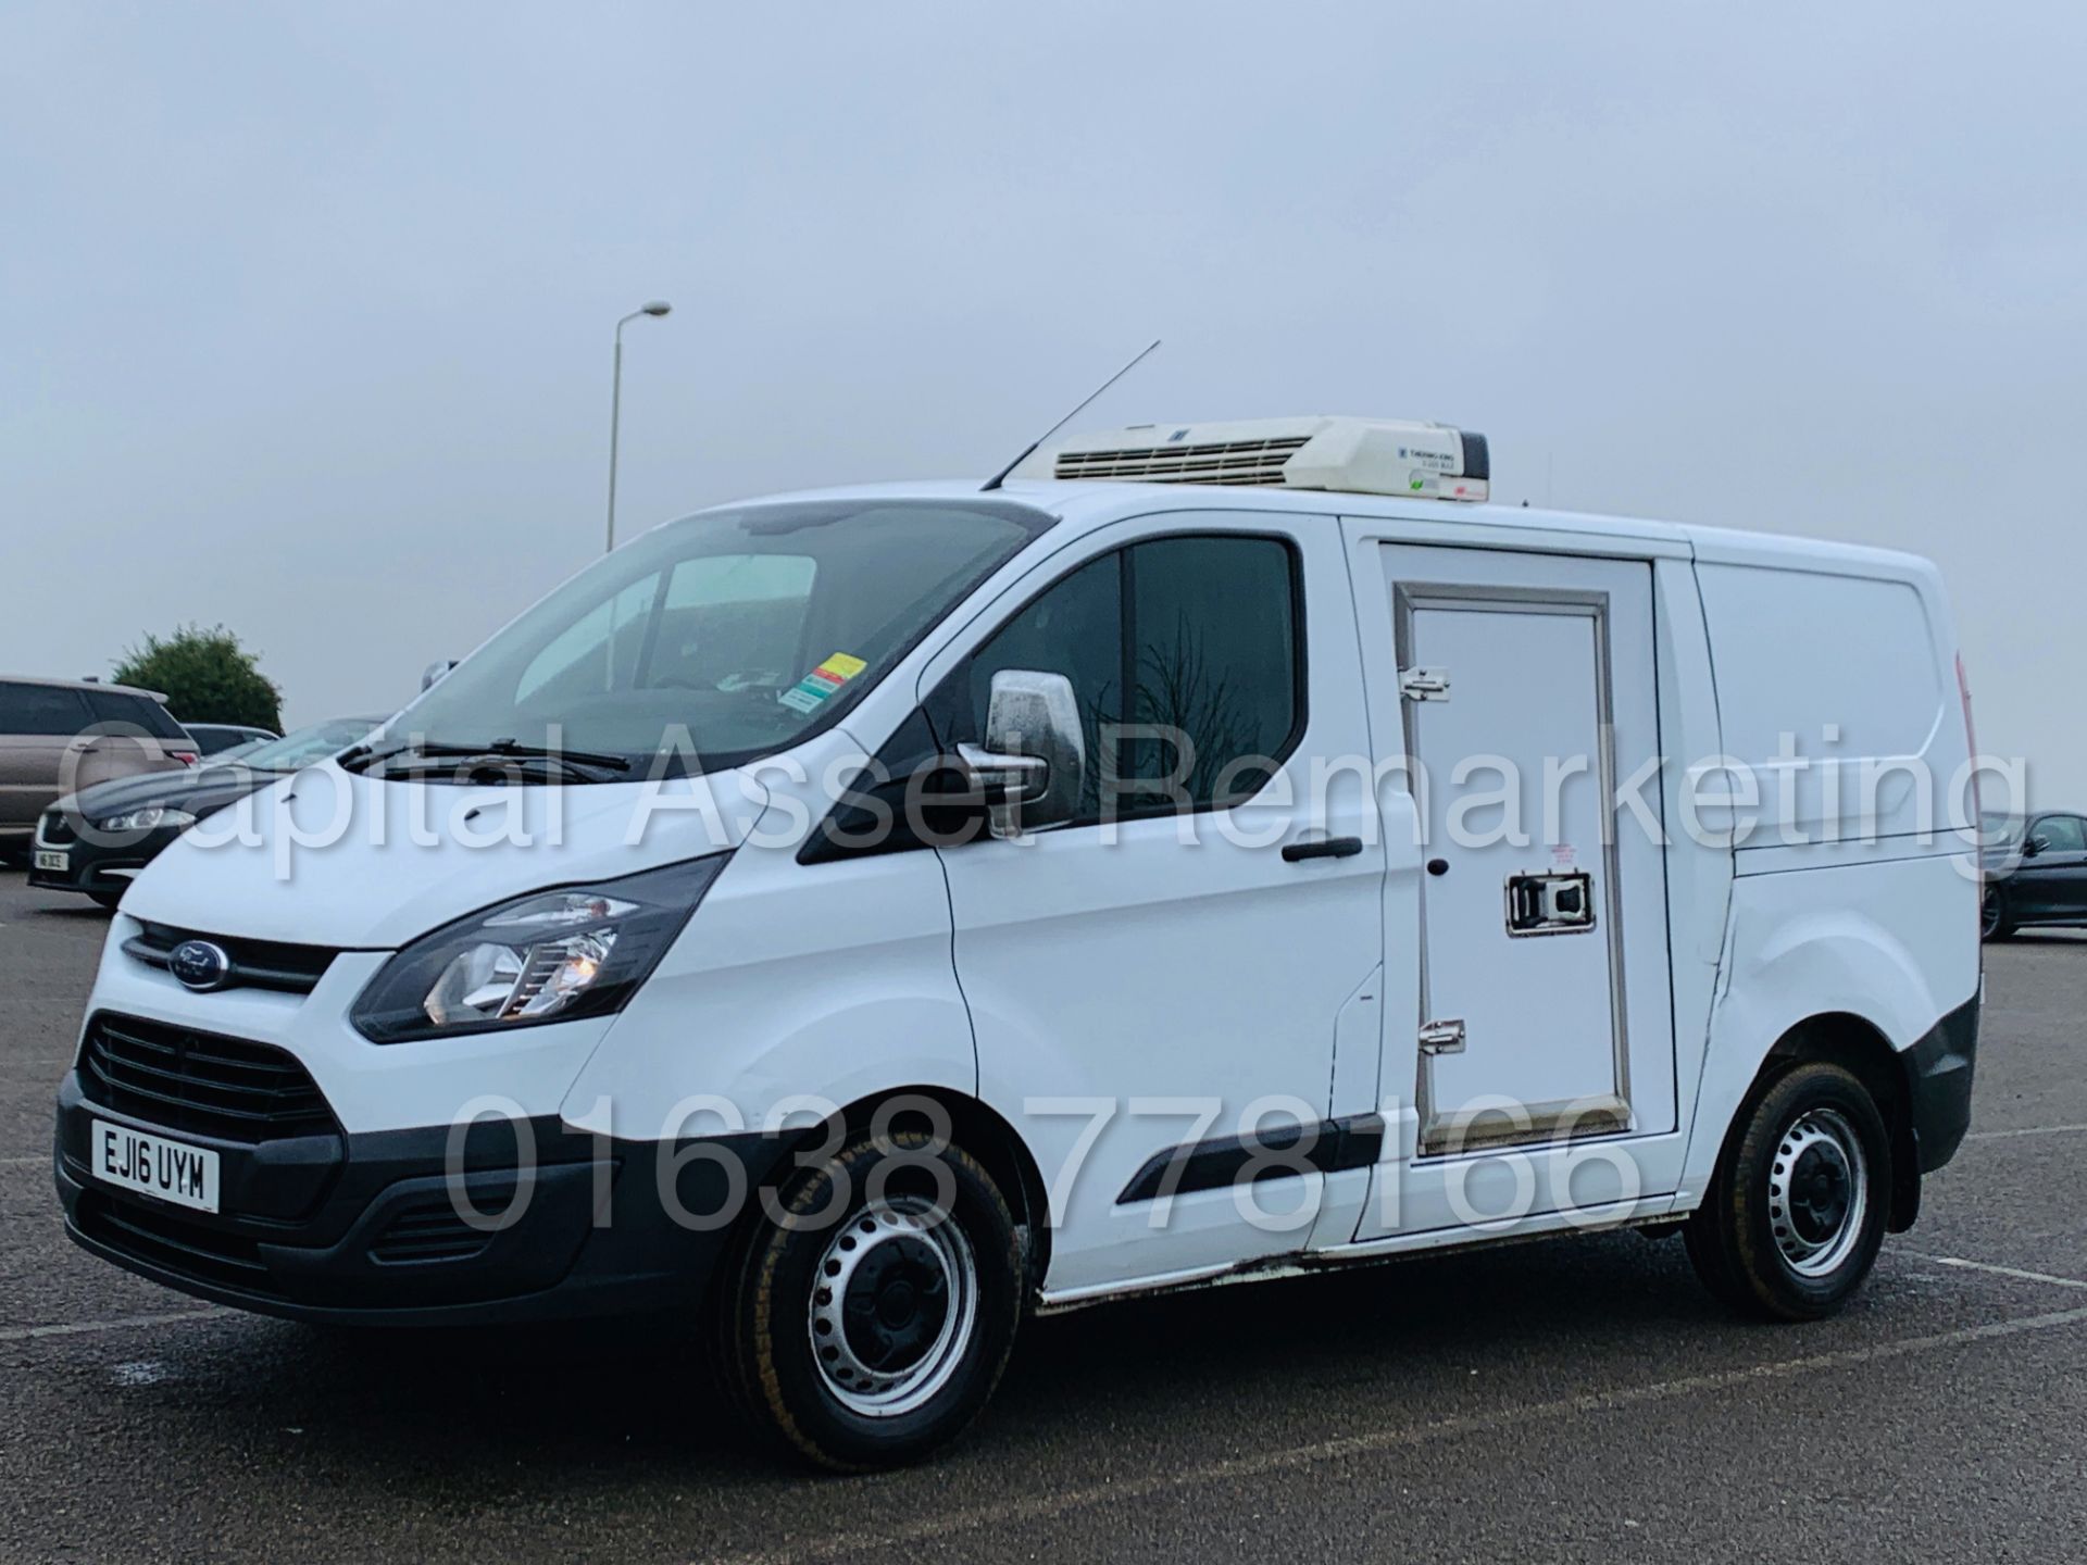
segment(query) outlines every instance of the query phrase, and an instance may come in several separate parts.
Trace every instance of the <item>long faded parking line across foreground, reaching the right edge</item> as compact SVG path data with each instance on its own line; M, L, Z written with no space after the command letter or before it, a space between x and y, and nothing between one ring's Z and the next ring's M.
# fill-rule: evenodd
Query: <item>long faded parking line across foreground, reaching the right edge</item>
M1271 1450L1256 1456L1233 1456L1229 1461L1206 1463L1202 1467L1188 1467L1177 1473L1152 1473L1148 1477L1098 1484L1081 1490L1060 1490L1058 1494L1035 1494L1029 1498L1004 1500L1000 1504L981 1504L968 1511L954 1511L947 1515L891 1527L887 1532L831 1534L826 1538L810 1540L799 1548L728 1555L726 1561L728 1565L795 1565L797 1561L829 1559L833 1555L860 1555L872 1548L899 1548L906 1544L950 1538L954 1534L973 1532L977 1527L1052 1521L1056 1517L1071 1515L1075 1511L1085 1511L1098 1504L1110 1504L1114 1500L1142 1500L1154 1494L1167 1494L1171 1490L1181 1490L1200 1484L1223 1484L1240 1477L1265 1477L1269 1473L1286 1473L1298 1467L1313 1467L1317 1463L1334 1463L1352 1456L1369 1456L1384 1450L1398 1450L1405 1446L1421 1446L1434 1440L1455 1440L1459 1436L1490 1434L1494 1429L1509 1429L1524 1423L1572 1419L1582 1413L1611 1413L1615 1408L1640 1406L1647 1402L1668 1402L1680 1396L1697 1396L1701 1392L1722 1392L1734 1386L1751 1386L1766 1379L1789 1379L1791 1375L1809 1375L1822 1369L1851 1369L1855 1365L1870 1365L1882 1358L1905 1358L1920 1352L1935 1352L1939 1348L1960 1348L1974 1342L2018 1338L2029 1331L2058 1331L2068 1325L2081 1325L2081 1323L2087 1323L2087 1308L2058 1310L2054 1315L2024 1315L2012 1321L1991 1321L1987 1325L1970 1325L1970 1327L1960 1327L1956 1331L1937 1331L1935 1335L1928 1338L1903 1338L1899 1342L1880 1342L1872 1348L1845 1348L1841 1352L1812 1354L1809 1358L1780 1358L1770 1365L1749 1365L1747 1369L1724 1369L1711 1375L1686 1375L1682 1379L1655 1381L1651 1386L1636 1386L1622 1392L1590 1392L1586 1396L1567 1396L1555 1402L1534 1402L1530 1406L1503 1408L1498 1413L1476 1413L1463 1419L1442 1419L1440 1423L1421 1423L1402 1429L1380 1429L1373 1434L1342 1436L1338 1440L1321 1440L1311 1446L1290 1446L1286 1450Z

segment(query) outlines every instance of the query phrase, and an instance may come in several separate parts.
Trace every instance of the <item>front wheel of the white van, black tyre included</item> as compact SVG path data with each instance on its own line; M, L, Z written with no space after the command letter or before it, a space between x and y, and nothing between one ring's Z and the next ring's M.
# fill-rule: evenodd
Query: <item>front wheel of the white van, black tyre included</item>
M778 1191L720 1279L718 1379L783 1448L897 1467L985 1408L1023 1315L1006 1198L962 1148L847 1141Z

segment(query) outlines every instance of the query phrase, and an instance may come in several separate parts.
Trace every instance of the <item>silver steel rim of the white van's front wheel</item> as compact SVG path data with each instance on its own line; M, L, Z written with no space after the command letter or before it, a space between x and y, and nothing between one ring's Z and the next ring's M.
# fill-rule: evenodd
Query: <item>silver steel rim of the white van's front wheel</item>
M979 1269L962 1227L922 1196L893 1196L856 1212L818 1258L812 1363L849 1413L895 1419L950 1383L977 1319Z

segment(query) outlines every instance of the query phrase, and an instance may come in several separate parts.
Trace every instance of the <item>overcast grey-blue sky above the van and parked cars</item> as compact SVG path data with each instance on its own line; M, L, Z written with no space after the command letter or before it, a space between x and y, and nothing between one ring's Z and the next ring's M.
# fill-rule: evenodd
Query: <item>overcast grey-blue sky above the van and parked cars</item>
M2087 803L2087 8L0 13L0 670L225 622L388 709L624 536L1081 424L1492 436L1496 495L1947 572Z

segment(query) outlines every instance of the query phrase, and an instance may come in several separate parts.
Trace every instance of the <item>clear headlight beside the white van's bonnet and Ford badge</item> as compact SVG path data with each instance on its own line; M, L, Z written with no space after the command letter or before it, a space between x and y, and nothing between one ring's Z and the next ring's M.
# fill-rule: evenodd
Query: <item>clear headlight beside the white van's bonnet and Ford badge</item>
M382 966L351 1020L371 1043L618 1012L730 853L532 891L447 924Z

